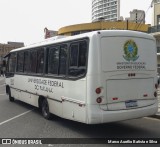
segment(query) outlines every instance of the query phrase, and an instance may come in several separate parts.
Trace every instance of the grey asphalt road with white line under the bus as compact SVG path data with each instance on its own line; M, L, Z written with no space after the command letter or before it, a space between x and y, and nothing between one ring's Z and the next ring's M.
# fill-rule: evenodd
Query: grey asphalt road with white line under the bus
M37 108L20 101L10 102L5 95L4 79L0 78L0 138L160 138L160 120L145 117L100 125L86 125L56 116L45 120Z

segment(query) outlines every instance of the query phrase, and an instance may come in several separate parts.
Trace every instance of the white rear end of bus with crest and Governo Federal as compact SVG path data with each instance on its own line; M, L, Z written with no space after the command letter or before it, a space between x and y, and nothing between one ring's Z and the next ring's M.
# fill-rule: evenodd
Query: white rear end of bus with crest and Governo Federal
M153 37L132 31L101 32L96 37L89 54L89 66L95 66L87 77L88 123L154 115L158 102Z

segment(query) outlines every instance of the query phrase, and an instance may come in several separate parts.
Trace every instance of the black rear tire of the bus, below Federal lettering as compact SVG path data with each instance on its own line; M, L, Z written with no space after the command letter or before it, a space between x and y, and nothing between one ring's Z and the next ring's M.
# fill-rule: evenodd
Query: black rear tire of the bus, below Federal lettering
M49 105L47 99L43 99L42 101L42 115L45 119L51 119L51 113L49 112Z

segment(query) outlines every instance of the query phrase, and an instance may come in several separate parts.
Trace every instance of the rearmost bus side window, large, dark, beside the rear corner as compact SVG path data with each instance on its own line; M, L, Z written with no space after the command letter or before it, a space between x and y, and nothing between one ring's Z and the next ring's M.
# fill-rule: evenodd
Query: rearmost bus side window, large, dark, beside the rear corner
M87 42L80 41L71 44L69 76L79 77L86 73Z

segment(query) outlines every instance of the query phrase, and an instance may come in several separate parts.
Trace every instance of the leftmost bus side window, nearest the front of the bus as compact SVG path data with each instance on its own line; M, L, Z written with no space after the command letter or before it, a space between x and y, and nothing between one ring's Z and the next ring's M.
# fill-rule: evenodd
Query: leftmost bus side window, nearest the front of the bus
M16 68L16 60L17 56L16 53L11 53L8 61L8 72L14 73Z

